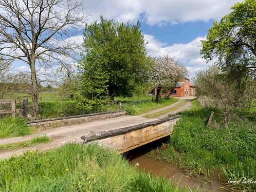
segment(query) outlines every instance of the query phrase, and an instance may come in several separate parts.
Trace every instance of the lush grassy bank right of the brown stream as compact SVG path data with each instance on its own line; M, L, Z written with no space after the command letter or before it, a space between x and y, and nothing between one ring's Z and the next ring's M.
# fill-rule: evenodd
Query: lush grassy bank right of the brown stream
M206 122L211 111L214 118L210 127ZM192 174L217 176L227 182L256 175L256 121L233 120L229 127L221 123L216 109L203 109L197 100L189 110L181 112L167 149L158 148L150 153L156 159L186 168ZM248 191L255 184L233 185Z

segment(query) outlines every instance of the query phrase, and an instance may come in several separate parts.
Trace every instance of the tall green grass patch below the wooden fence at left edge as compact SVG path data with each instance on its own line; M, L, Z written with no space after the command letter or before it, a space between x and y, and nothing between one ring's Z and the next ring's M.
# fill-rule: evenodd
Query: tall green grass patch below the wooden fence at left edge
M0 118L0 138L29 135L32 128L22 118Z

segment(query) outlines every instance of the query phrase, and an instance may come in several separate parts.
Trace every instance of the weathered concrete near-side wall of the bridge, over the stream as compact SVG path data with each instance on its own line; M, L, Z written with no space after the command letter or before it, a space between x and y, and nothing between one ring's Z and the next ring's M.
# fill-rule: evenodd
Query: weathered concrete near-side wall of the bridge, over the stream
M175 116L109 131L89 131L81 139L85 144L97 143L123 153L171 135L179 119Z

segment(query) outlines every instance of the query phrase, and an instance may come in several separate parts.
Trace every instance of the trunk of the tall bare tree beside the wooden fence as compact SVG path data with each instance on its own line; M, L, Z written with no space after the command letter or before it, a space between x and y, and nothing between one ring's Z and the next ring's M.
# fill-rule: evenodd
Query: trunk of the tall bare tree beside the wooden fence
M35 71L35 59L31 59L30 69L31 69L31 82L32 82L32 109L33 109L33 116L36 116L39 113L39 104L38 104L38 82L36 80L36 71Z

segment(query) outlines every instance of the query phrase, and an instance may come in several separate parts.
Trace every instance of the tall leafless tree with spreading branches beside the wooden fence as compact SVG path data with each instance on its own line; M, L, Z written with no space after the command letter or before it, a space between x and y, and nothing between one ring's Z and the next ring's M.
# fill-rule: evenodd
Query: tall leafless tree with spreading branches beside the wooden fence
M82 9L76 0L0 1L0 56L5 65L14 60L29 65L34 115L39 112L36 68L75 58L80 44L72 35L86 20Z

